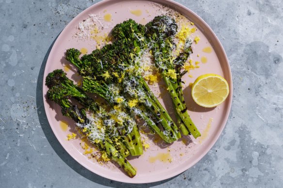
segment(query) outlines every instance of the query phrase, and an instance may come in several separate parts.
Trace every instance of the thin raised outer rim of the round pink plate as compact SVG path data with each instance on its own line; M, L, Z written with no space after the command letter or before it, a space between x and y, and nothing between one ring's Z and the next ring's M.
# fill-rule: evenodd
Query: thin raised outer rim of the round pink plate
M128 1L128 0L121 0L121 1ZM139 1L139 0L131 0L131 1ZM166 176L162 176L161 178L158 178L158 179L155 179L155 180L143 180L143 181L135 181L135 178L131 178L131 179L123 179L123 180L120 180L119 178L116 178L116 177L112 177L110 176L109 174L105 174L103 172L100 172L100 171L93 171L94 169L91 169L87 164L85 164L83 161L80 161L78 160L71 152L69 152L63 142L61 142L61 140L59 140L58 138L58 134L57 132L52 128L52 126L50 126L50 120L52 117L50 117L49 114L46 113L46 116L47 116L47 120L48 120L48 124L49 126L51 127L51 130L53 131L54 135L56 136L56 139L59 141L59 143L63 146L63 148L65 149L65 151L73 158L75 159L80 165L82 165L84 168L88 169L89 171L91 171L92 173L94 174L97 174L97 175L100 175L104 178L107 178L107 179L110 179L110 180L114 180L114 181L118 181L118 182L123 182L123 183L132 183L132 184L140 184L140 183L153 183L153 182L158 182L158 181L162 181L162 180L166 180L166 179L169 179L169 178L172 178L178 174L181 174L185 171L187 171L189 168L191 168L193 165L195 165L197 162L199 162L207 153L208 151L216 144L217 140L219 139L222 131L224 130L226 124L227 124L227 121L228 121L228 118L229 118L229 115L230 115L230 112L231 112L231 107L232 107L232 99L233 99L233 78L232 78L232 72L231 72L231 67L230 67L230 64L229 64L229 60L227 58L227 55L225 53L225 50L222 46L222 44L220 43L220 40L219 38L217 37L217 35L214 33L214 31L209 27L209 25L196 13L194 13L192 10L190 10L188 7L180 4L179 2L175 2L173 0L143 0L143 1L149 1L149 2L154 2L154 3L158 3L158 4L161 4L161 5L165 5L169 8L172 8L173 10L176 10L178 8L181 8L183 9L183 12L189 12L189 14L192 14L193 16L195 16L198 20L200 20L200 22L203 24L203 26L205 27L205 29L207 29L206 31L203 31L203 33L205 32L210 32L210 34L212 34L213 38L215 39L215 43L217 43L220 47L220 52L222 52L222 55L224 55L222 58L224 58L224 61L225 63L228 65L227 66L227 73L229 75L229 89L230 89L230 92L229 92L229 96L226 100L229 100L228 102L228 105L227 105L227 111L226 111L226 114L225 114L225 117L223 118L223 121L225 123L223 123L220 127L220 131L217 131L217 133L214 135L213 139L212 139L212 142L208 144L208 146L206 147L206 149L204 150L204 152L199 155L193 162L191 162L189 165L186 166L186 168L181 168L181 170L179 171L176 171L174 173L171 173L171 174L168 174ZM73 22L76 21L76 18L80 17L80 15L84 14L84 12L87 12L88 10L90 9L93 9L95 7L98 7L100 5L103 5L103 4L107 4L107 3L117 3L117 0L102 0L100 2L97 2L93 5L91 5L90 7L86 8L85 10L83 10L82 12L80 12L78 15L76 15L65 27L64 29L60 32L59 36L57 37L55 43L52 45L52 49L50 50L50 53L48 55L48 58L47 58L47 62L46 62L46 65L48 64L48 62L50 61L50 55L54 53L54 46L57 45L57 43L59 43L61 37L63 36L62 33L68 28L69 25L71 25ZM178 10L176 10L178 11ZM178 11L179 12L179 11ZM186 16L186 14L184 14ZM44 78L43 78L43 103L44 103L44 109L45 109L45 112L48 111L49 106L47 106L47 102L45 102L46 98L45 98L45 95L46 95L46 91L44 89L45 87L45 77L46 75L48 74L49 72L47 72L47 67L45 67L45 70L44 70Z

